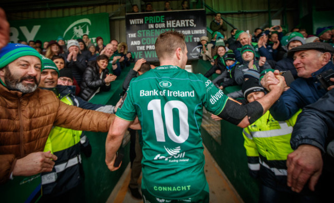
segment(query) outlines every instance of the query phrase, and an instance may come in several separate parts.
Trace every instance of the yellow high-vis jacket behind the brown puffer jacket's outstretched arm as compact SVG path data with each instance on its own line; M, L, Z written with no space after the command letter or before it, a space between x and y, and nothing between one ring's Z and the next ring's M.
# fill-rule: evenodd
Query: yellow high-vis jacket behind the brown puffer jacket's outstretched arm
M61 101L65 104L73 105L68 95L62 97ZM55 160L52 172L42 173L42 191L44 194L62 193L70 188L76 187L80 182L81 134L82 131L58 126L52 128L44 151L51 151L51 153L58 156L58 159ZM73 175L75 175L76 178L73 178ZM63 182L63 185L59 182Z

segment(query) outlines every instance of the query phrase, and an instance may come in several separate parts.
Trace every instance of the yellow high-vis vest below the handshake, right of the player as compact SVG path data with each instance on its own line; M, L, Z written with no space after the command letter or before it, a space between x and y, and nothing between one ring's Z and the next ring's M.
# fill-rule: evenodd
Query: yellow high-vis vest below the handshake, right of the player
M287 155L293 152L290 146L291 133L301 111L286 121L275 120L267 111L252 125L244 128L244 146L250 170L259 170L261 164L275 175L286 175Z

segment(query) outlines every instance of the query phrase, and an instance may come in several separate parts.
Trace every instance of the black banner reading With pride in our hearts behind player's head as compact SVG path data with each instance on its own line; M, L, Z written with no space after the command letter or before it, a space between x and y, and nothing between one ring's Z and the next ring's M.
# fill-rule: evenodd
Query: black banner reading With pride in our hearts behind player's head
M199 38L207 36L204 9L150 13L129 13L125 16L126 43L132 56L157 62L155 40L160 33L180 31L185 35L188 60L199 58Z

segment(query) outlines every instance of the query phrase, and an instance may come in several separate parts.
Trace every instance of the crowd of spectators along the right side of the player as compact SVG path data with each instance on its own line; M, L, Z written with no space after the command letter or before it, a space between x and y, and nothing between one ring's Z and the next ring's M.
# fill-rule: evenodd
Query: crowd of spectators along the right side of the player
M215 18L211 24L218 25L218 20ZM205 73L216 87L226 91L229 97L248 104L270 92L269 85L279 82L275 78L277 75L284 75L286 82L285 91L270 110L243 132L250 175L261 180L259 201L319 202L329 198L328 188L333 181L330 170L334 162L330 132L332 121L328 122L328 117L332 115L323 115L328 108L317 103L324 96L328 99L320 99L319 103L333 105L329 101L332 99L329 93L334 88L334 75L331 74L334 70L334 27L318 28L314 35L298 28L285 33L281 26L264 30L256 28L253 35L232 29L231 34L232 37L225 41L225 50L229 51L220 56L225 63L213 64ZM212 34L212 38L215 35ZM213 46L214 43L205 44L202 50ZM202 54L202 59L207 60L208 57ZM312 104L310 109L308 105ZM302 113L308 126L299 123L302 118L297 117L304 108L309 109L312 115L317 110L321 111L319 123L326 135L314 135L316 125L310 124L312 118L307 117L309 114ZM219 120L215 115L212 118ZM292 133L295 124L298 131ZM313 134L307 133L303 127L308 127ZM308 178L309 187L304 187Z

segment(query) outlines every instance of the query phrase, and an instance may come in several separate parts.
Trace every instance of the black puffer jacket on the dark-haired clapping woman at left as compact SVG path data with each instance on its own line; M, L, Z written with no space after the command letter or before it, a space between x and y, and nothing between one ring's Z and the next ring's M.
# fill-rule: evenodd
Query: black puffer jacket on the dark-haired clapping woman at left
M107 74L109 74L108 69L102 71L102 79L100 78L99 66L96 61L88 62L88 67L86 68L82 83L80 85L79 96L85 100L88 100L98 89L100 91L109 91L110 85L105 85L104 79Z

